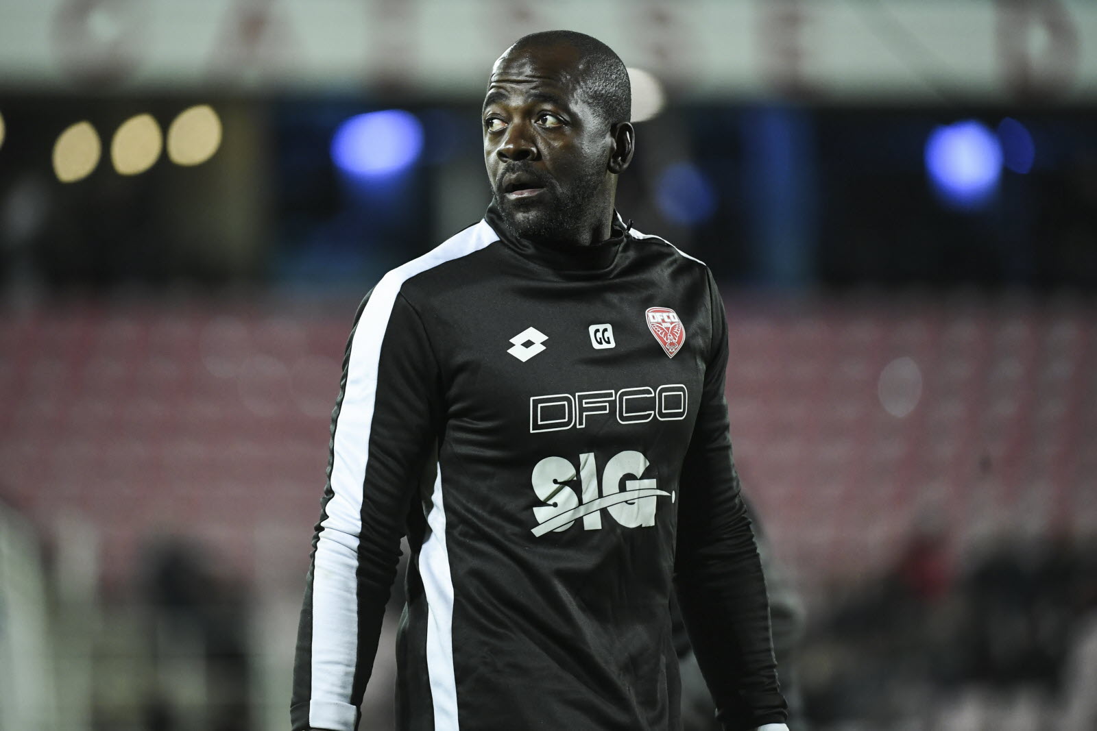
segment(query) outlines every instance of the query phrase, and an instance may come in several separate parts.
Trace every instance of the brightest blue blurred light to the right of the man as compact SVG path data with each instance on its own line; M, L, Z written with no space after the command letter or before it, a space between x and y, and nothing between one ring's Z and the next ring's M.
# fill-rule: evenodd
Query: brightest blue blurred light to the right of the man
M997 190L1002 146L974 119L942 125L926 140L926 171L947 205L977 208Z

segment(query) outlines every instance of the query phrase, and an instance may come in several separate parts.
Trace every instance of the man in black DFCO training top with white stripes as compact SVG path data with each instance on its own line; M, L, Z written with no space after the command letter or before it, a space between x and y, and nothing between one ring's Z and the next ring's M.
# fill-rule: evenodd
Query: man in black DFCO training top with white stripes
M614 214L630 103L595 38L508 48L485 219L359 309L294 729L355 728L405 533L400 729L676 729L675 586L725 728L784 729L723 305L703 264Z

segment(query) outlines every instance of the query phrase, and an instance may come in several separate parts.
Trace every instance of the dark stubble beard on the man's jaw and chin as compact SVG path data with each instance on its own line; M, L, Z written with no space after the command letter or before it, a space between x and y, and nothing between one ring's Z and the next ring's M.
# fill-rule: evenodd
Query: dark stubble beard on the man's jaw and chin
M513 236L538 243L568 241L581 239L593 226L600 214L598 193L604 180L604 173L591 171L567 189L550 182L545 187L548 199L536 205L514 204L498 191L493 192L493 198Z

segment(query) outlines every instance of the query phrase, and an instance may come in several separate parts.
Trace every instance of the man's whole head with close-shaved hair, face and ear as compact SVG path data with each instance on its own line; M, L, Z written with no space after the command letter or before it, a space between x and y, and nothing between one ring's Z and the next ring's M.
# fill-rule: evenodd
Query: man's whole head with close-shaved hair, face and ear
M577 245L609 237L634 149L631 105L624 64L589 35L534 33L499 57L484 96L484 163L514 236Z

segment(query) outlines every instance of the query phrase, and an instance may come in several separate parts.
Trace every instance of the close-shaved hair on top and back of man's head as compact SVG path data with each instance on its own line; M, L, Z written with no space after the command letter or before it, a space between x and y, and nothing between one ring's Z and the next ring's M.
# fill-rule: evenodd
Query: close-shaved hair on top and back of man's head
M602 121L610 125L629 122L632 112L629 71L613 49L598 38L576 31L541 31L523 35L499 59L518 52L559 46L575 49L576 80Z

